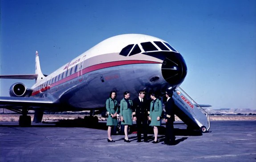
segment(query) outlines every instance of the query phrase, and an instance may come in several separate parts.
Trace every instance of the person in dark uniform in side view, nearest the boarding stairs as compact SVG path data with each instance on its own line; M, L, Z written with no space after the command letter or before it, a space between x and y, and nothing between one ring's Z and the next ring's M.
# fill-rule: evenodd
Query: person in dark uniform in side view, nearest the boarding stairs
M165 140L162 144L175 145L175 135L173 122L175 121L174 113L174 101L172 99L173 91L171 89L166 90L167 102L165 104L165 122L166 122L166 134Z

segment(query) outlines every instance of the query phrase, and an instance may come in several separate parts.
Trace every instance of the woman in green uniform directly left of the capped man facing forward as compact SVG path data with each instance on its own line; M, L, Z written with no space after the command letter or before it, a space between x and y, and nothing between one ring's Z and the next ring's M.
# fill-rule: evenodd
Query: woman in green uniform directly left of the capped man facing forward
M132 101L129 100L130 93L126 91L124 93L124 98L120 101L120 116L121 124L125 125L125 140L124 142L130 142L128 138L128 126L132 126Z

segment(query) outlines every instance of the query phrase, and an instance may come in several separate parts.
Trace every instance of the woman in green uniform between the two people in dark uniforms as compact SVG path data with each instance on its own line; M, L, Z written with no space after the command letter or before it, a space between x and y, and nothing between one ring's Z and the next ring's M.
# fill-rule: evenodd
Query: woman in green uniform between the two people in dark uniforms
M155 93L150 94L150 98L153 100L150 103L150 114L149 120L150 126L154 126L154 141L152 143L158 143L157 135L158 135L158 126L161 126L160 117L163 111L162 102L158 98L156 98Z

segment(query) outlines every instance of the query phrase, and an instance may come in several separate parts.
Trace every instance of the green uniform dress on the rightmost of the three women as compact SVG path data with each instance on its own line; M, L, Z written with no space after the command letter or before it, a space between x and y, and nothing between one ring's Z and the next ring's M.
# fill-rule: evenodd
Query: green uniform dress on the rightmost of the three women
M153 104L154 104L154 110L153 109ZM158 98L153 101L151 101L150 103L150 114L149 116L151 117L151 122L150 122L150 126L161 126L161 118L158 121L157 117L161 117L162 115L162 111L163 111L163 107L162 107L162 102L161 100L159 100Z

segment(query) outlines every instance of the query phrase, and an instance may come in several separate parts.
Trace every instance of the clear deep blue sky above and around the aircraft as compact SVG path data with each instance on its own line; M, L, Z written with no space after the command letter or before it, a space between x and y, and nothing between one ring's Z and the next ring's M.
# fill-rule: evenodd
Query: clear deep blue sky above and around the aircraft
M255 0L0 0L0 74L43 73L111 36L159 37L184 57L181 87L213 109L256 109ZM15 82L0 80L0 95Z

